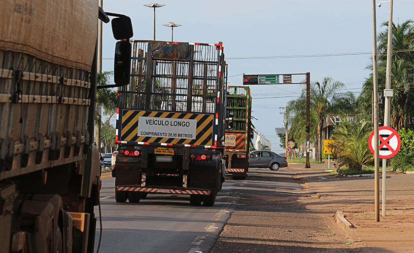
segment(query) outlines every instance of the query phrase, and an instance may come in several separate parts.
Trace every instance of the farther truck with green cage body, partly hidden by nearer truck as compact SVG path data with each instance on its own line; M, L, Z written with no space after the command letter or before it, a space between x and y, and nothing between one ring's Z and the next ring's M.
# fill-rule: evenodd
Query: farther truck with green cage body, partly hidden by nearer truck
M247 179L249 170L251 95L248 86L227 87L226 109L226 173L234 180Z

